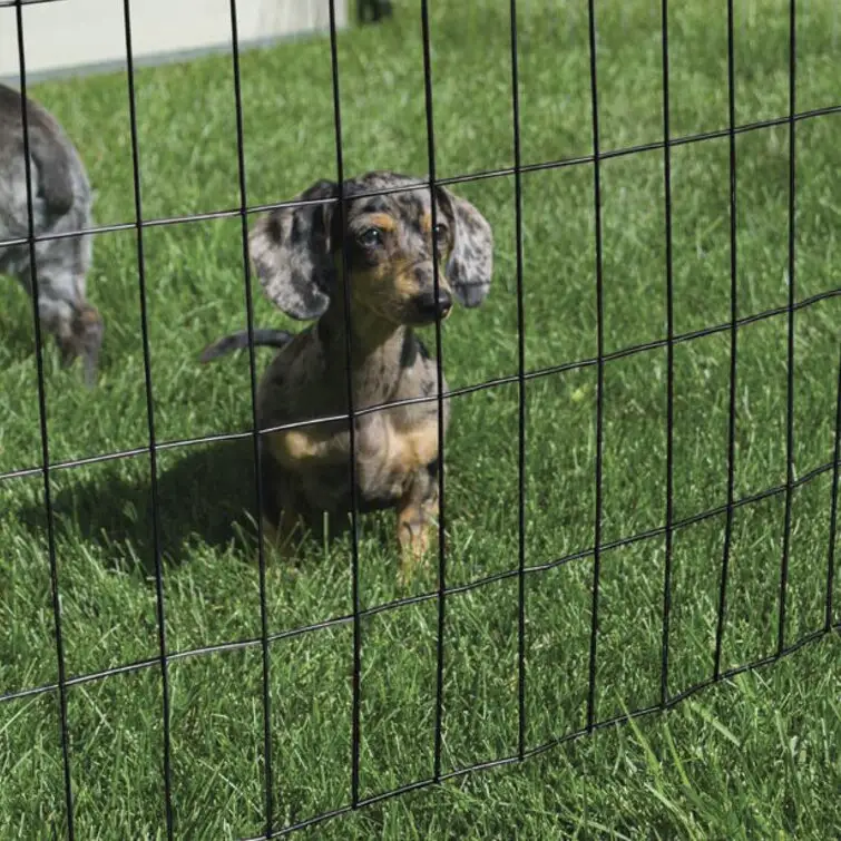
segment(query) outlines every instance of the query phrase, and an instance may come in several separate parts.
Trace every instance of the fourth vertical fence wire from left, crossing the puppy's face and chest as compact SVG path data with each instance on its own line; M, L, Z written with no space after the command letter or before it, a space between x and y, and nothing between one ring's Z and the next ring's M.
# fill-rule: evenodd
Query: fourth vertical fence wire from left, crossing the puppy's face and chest
M342 154L342 106L339 88L339 46L336 39L335 0L330 2L330 62L333 79L333 123L335 127L335 168L338 179L339 231L342 235L341 272L344 293L344 352L348 373L348 430L350 436L349 478L351 485L351 602L353 612L353 677L351 711L351 803L359 803L359 752L360 752L360 674L362 671L362 627L360 624L359 596L359 499L356 493L356 420L353 411L353 368L351 335L351 292L348 284L348 243L344 237L344 156Z

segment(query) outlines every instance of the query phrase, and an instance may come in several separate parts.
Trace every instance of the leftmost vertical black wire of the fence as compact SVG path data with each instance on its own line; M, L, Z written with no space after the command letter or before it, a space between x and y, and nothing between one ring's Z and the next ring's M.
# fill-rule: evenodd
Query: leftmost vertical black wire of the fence
M56 530L50 488L50 444L47 420L47 390L43 382L43 349L41 346L41 321L39 317L38 261L35 244L35 196L32 195L32 159L29 144L29 109L27 108L27 62L23 40L23 9L21 0L14 6L18 36L18 66L20 71L20 117L23 134L23 174L27 182L27 239L32 290L32 319L35 325L35 360L38 377L38 420L41 437L41 475L43 478L43 506L47 512L47 554L50 567L50 594L52 598L52 623L56 636L56 661L58 667L58 711L59 735L61 736L61 767L65 783L65 809L67 811L67 837L75 838L74 793L70 775L70 735L67 724L67 671L65 667L65 642L61 632L61 595L58 581L58 558L56 554Z

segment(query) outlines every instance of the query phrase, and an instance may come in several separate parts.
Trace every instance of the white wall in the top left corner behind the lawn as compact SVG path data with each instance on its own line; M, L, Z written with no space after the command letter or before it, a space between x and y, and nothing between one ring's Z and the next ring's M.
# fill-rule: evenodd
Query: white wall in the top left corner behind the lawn
M126 58L123 0L51 0L23 7L27 76L120 66ZM229 0L131 0L135 60L229 49ZM239 42L326 30L327 0L237 0ZM335 0L336 25L348 0ZM0 8L0 78L17 81L16 10Z

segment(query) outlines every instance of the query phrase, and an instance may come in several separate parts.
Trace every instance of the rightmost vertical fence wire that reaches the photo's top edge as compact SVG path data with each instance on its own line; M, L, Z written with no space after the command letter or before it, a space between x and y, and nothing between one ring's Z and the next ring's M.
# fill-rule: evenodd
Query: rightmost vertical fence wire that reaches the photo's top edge
M794 145L794 107L796 105L796 0L789 0L789 333L785 395L785 520L783 554L780 560L780 615L776 632L776 655L785 648L786 590L791 555L791 512L794 499L794 302L795 302L795 211L796 170Z

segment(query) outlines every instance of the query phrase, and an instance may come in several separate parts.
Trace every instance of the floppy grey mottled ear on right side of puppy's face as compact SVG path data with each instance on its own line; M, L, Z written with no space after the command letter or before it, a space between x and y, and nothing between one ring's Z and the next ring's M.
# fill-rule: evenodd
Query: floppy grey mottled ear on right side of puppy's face
M493 234L490 225L470 202L444 187L438 187L438 201L452 226L447 280L464 306L478 306L490 290L493 272Z

